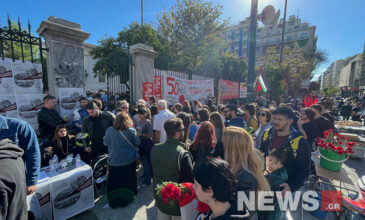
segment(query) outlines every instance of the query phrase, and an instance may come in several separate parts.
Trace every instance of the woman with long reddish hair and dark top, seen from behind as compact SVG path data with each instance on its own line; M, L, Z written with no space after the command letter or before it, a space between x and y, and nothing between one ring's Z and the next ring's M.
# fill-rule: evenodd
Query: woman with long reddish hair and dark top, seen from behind
M223 157L223 146L218 144L215 137L214 126L211 122L205 121L200 124L189 152L192 154L195 163L203 162L207 157Z

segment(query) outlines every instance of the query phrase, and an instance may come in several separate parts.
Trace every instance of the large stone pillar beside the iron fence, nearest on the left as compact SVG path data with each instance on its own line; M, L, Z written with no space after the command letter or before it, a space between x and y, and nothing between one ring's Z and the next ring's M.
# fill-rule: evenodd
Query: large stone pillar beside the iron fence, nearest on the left
M84 41L90 34L80 24L48 17L37 28L45 39L49 94L58 97L58 88L84 88Z

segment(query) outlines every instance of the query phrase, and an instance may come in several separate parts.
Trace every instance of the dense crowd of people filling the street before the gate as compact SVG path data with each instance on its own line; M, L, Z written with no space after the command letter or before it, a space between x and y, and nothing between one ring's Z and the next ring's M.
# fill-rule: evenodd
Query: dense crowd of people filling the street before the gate
M198 199L211 208L200 219L233 215L279 219L278 207L272 212L237 211L237 192L248 196L251 191L271 189L285 194L300 190L315 172L311 161L315 140L333 129L341 116L361 121L364 106L364 99L353 99L349 115L349 101L327 97L306 107L290 97L281 102L260 97L252 103L230 100L217 105L214 97L204 104L198 100L168 103L155 97L134 104L125 100L106 103L95 95L80 98L80 108L70 120L56 110L55 97L47 95L43 101L38 137L26 122L0 115L0 164L12 163L26 170L24 181L10 171L2 174L1 178L14 181L17 190L24 185L24 191L14 198L35 192L40 166L47 166L54 155L64 159L79 154L94 164L108 154L108 192L123 188L136 195L140 187L150 184L155 189L163 182L192 182ZM80 132L89 137L86 144L78 143ZM140 185L139 161L143 166ZM0 181L0 189L6 187L10 186ZM179 218L177 205L167 205L154 195L157 219ZM14 210L24 208L25 201L17 204L0 205L14 216L21 215Z

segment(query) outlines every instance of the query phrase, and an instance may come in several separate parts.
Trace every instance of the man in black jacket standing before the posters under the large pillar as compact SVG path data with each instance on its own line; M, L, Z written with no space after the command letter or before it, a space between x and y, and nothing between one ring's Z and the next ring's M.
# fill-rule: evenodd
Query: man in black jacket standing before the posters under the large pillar
M66 124L56 111L57 100L54 96L43 98L44 107L38 112L39 133L42 138L51 139L54 136L57 125Z

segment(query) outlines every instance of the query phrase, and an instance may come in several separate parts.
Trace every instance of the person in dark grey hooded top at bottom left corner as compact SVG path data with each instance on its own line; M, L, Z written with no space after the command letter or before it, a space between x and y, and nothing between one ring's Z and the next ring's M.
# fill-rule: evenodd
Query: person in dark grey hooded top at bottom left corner
M23 150L9 139L0 140L0 219L28 218Z

